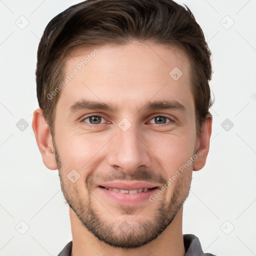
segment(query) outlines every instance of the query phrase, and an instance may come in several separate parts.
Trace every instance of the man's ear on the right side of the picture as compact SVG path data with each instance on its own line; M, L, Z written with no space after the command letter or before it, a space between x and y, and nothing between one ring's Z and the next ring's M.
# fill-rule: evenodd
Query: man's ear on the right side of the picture
M194 160L193 170L200 170L206 162L209 151L210 135L211 135L212 115L208 114L206 120L202 124L200 137L197 141L196 151L197 158Z

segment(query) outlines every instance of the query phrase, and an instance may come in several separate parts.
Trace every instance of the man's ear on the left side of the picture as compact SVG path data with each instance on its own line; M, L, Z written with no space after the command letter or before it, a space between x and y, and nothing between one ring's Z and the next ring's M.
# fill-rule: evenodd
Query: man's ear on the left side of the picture
M36 138L37 146L42 155L44 165L51 170L57 169L55 155L53 153L53 143L49 128L42 115L41 108L37 108L33 113L32 128Z

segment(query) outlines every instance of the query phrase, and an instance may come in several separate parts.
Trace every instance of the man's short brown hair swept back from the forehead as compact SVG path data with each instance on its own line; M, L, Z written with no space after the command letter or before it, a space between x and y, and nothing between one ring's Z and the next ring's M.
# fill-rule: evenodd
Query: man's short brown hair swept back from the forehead
M123 45L133 39L177 46L185 51L191 62L196 134L200 134L212 105L208 84L211 53L189 8L172 0L86 0L52 18L39 42L36 92L52 136L60 93L51 99L47 95L63 79L68 53L77 47Z

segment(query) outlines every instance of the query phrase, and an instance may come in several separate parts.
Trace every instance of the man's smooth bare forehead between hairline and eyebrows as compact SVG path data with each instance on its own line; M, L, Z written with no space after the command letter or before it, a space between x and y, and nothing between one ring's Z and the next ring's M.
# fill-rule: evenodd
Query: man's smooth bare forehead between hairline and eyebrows
M177 47L133 41L77 48L65 63L65 74L72 76L59 98L65 107L84 97L116 105L192 99L189 59Z

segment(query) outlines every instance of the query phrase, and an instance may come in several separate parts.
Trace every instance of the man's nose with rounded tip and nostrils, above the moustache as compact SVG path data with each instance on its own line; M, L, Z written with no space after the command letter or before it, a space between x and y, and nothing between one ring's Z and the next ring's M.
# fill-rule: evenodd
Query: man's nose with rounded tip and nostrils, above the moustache
M136 128L117 130L109 147L107 162L112 168L131 175L137 168L149 167L150 150Z

